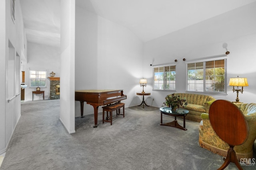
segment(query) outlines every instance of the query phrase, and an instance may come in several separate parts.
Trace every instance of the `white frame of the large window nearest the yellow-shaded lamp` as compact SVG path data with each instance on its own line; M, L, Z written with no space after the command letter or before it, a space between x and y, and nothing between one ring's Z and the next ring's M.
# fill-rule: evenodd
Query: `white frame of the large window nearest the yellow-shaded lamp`
M206 62L218 61L218 60L224 60L224 91L223 92L206 91ZM203 63L203 91L188 90L188 64L191 64L191 63ZM186 92L196 93L196 94L201 93L201 94L209 94L209 95L226 96L227 95L227 56L211 57L207 59L194 60L194 61L186 61Z

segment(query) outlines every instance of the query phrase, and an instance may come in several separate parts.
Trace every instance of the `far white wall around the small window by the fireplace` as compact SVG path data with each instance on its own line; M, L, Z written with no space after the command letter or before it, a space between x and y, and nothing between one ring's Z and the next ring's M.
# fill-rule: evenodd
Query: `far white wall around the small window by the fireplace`
M55 77L60 77L60 47L47 46L37 43L28 42L28 63L25 68L25 101L32 100L32 91L36 88L30 88L29 71L30 70L47 70L47 77L50 72L55 72ZM50 99L50 79L46 79L46 88L44 91L44 99ZM34 100L43 100L42 94L34 94Z

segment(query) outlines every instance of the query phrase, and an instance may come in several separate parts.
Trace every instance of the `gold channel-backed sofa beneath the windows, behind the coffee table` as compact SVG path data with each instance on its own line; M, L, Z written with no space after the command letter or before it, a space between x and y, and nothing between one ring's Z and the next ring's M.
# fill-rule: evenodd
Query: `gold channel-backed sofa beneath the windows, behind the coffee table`
M176 93L176 95L179 95L182 99L186 98L188 102L188 105L185 107L189 111L186 119L197 122L202 120L202 113L209 113L209 103L215 100L212 96L203 94Z

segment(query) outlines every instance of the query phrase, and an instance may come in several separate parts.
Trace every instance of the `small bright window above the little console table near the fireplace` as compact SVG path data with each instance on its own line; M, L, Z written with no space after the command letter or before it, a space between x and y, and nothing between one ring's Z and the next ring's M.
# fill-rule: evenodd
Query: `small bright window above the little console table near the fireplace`
M46 71L30 70L30 87L46 87Z

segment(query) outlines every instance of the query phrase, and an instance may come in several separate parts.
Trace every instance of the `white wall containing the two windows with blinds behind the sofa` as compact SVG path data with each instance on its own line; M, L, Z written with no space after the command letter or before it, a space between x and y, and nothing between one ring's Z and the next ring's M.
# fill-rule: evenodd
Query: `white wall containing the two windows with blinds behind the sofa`
M182 61L225 54L223 44L230 51L227 61L227 83L230 77L247 77L248 87L239 94L240 102L256 103L256 3L243 6L225 14L170 33L145 43L144 72L150 77L152 86L152 67L150 64L176 63L176 92L186 90L186 64ZM152 87L151 87L152 89ZM173 92L152 91L153 105L162 106L164 97ZM216 99L235 101L236 93L228 86L227 96L214 96Z

